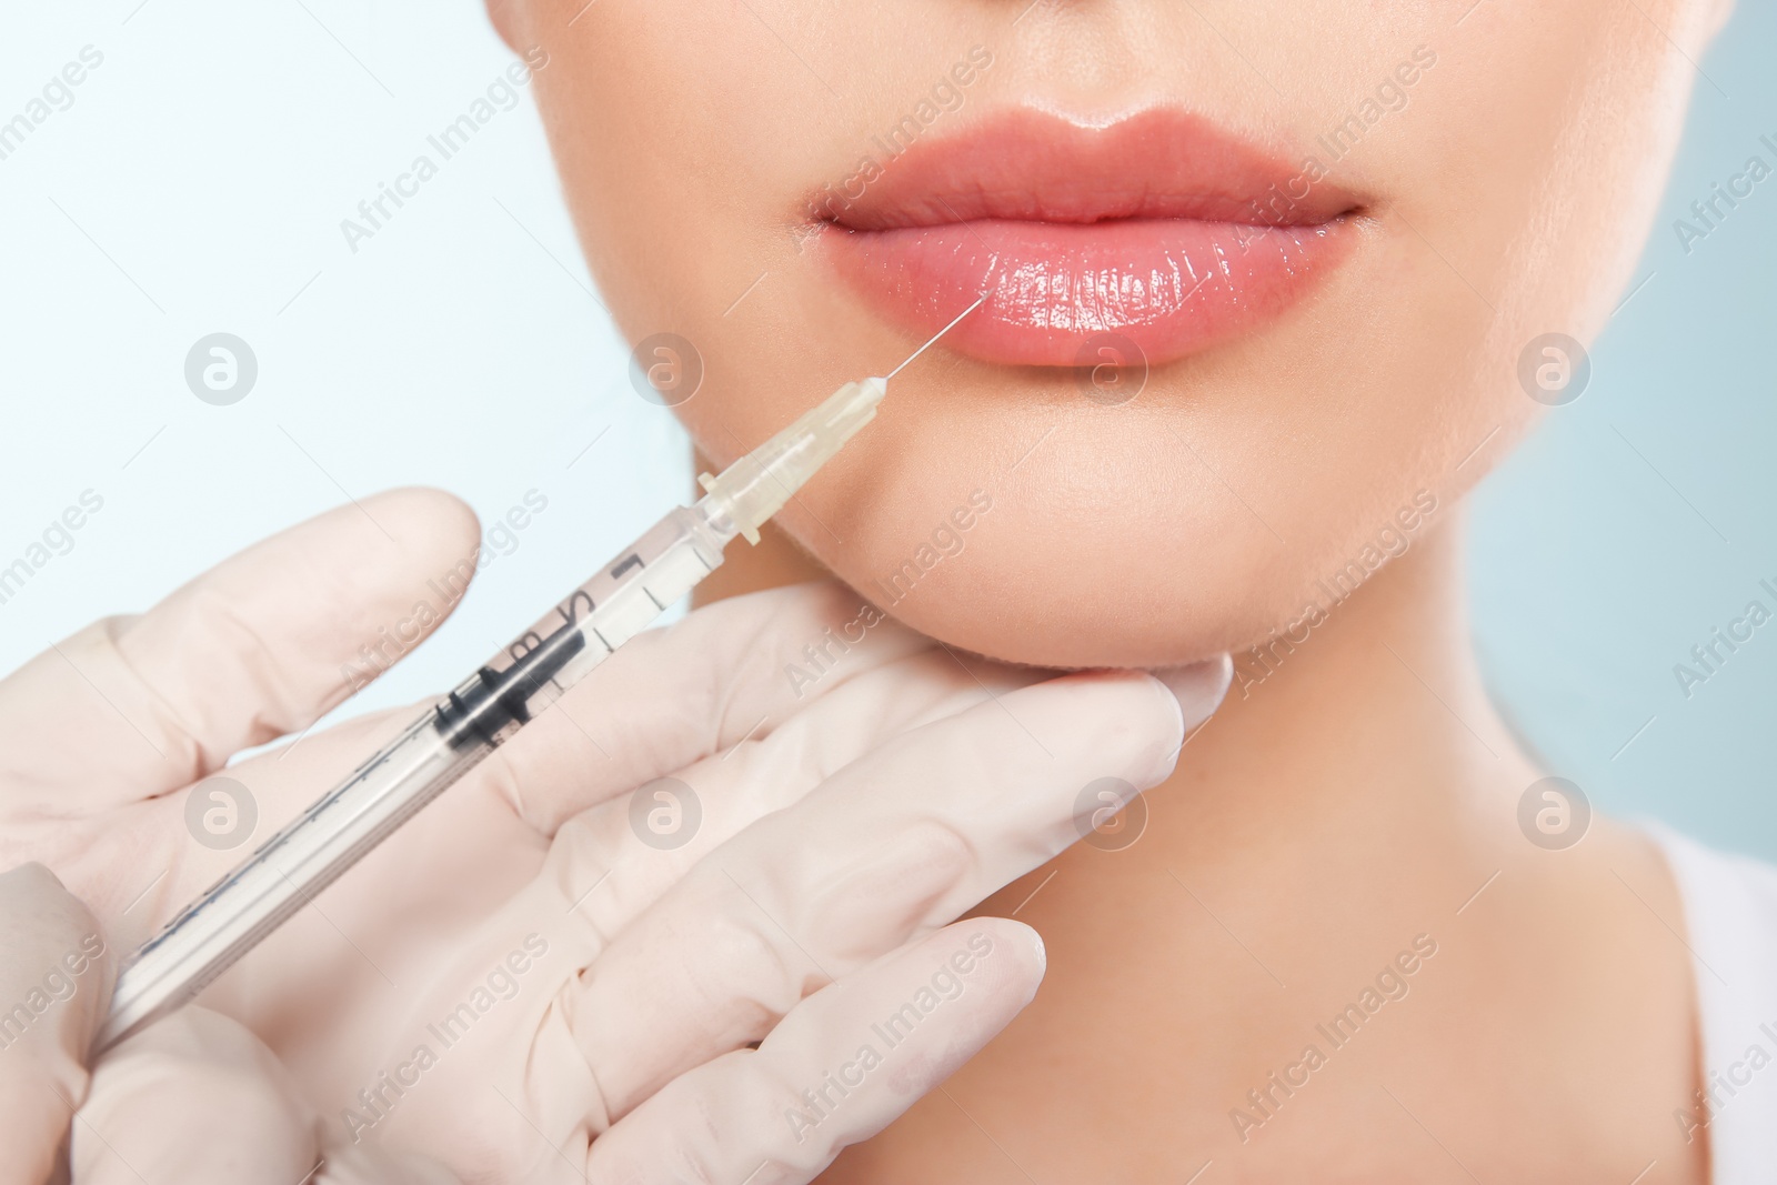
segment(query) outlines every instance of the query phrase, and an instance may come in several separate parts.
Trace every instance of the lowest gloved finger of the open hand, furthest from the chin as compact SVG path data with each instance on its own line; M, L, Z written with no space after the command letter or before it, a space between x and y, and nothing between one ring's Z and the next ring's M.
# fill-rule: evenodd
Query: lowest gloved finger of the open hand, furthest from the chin
M673 1078L594 1141L586 1180L801 1185L974 1057L1041 977L1031 927L958 922L816 991L757 1050Z

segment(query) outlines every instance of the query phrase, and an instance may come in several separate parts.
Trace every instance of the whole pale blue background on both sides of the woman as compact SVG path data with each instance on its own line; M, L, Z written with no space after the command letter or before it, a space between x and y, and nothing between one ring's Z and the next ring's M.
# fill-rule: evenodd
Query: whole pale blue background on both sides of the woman
M0 121L84 44L105 64L0 160L0 565L84 489L105 510L0 604L0 670L347 494L442 485L490 522L542 492L515 551L352 711L419 698L688 492L684 435L627 386L528 94L355 254L339 233L508 66L476 0L4 23ZM1749 155L1777 163L1757 144L1777 140L1773 48L1777 12L1741 4L1702 62L1651 279L1583 398L1477 496L1471 563L1489 680L1555 773L1768 858L1777 622L1688 700L1672 664L1749 599L1777 611L1757 588L1777 585L1777 178L1690 254L1672 220ZM215 330L261 370L227 409L181 377Z

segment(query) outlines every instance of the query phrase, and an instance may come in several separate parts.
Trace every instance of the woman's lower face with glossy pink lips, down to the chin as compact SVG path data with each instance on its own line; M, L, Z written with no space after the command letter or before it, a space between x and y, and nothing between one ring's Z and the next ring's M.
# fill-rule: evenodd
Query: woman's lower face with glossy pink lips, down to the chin
M1590 341L1621 298L1718 5L1470 2L494 18L549 55L617 322L702 355L677 410L707 457L986 291L778 522L880 604L915 561L892 611L944 641L1159 666L1285 627L1398 515L1450 506L1539 410L1526 345ZM1148 375L1118 402L1136 370L1072 362L1127 343Z

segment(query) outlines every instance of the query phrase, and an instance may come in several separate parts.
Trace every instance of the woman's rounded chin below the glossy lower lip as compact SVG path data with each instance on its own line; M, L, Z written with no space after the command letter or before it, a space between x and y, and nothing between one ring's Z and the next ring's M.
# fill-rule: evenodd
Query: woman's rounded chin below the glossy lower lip
M1066 446L1054 437L1068 425L1056 426L1022 460L1041 414L988 416L988 432L970 419L873 425L780 524L890 616L1002 663L1194 663L1304 604L1313 563L1201 471L1157 464L1144 418L1116 432L1075 423Z

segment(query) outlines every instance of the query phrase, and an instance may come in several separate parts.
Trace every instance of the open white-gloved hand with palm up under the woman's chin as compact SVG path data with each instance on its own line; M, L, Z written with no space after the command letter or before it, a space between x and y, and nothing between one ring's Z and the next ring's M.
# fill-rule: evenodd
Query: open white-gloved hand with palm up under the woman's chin
M416 643L474 542L453 499L386 494L34 659L0 682L5 862L146 938L249 851L187 824L224 801L203 780L343 700L361 647ZM805 1181L1036 990L1027 927L940 927L1079 839L1105 778L1164 778L1228 673L1038 680L837 585L720 602L620 650L204 1004L331 1139L464 1180ZM252 835L416 711L231 766ZM76 1180L188 1162L160 1121L178 1075L135 1100L76 1126Z

